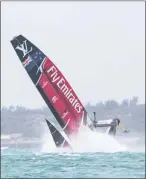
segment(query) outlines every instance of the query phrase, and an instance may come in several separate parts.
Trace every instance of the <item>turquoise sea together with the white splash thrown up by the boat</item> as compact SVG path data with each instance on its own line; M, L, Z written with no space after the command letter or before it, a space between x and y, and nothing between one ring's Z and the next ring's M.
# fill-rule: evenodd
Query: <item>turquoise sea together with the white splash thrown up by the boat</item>
M145 150L135 143L81 133L73 150L56 149L45 135L40 148L1 151L2 178L145 178ZM134 140L133 140L134 141Z

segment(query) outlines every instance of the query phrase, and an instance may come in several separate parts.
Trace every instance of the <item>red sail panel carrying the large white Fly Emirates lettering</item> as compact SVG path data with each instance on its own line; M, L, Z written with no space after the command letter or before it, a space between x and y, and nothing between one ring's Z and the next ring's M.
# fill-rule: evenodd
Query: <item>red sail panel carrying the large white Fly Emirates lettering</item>
M51 84L57 90L60 97L65 101L70 112L77 121L77 125L81 122L82 111L84 106L76 96L75 92L59 71L59 69L47 58L43 64L43 70L47 78L50 80Z

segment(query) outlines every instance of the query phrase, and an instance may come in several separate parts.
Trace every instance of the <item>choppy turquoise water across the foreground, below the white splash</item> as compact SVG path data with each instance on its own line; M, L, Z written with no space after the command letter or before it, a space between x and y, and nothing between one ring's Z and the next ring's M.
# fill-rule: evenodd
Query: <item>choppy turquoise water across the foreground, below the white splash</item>
M144 178L144 152L41 153L35 149L5 149L2 178L119 177Z

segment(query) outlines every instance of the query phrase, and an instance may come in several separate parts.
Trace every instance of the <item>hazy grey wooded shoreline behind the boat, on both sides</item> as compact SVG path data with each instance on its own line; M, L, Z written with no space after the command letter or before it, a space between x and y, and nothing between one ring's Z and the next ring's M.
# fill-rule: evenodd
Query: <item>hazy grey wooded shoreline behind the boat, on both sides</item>
M138 104L138 97L99 101L95 105L85 105L90 117L96 112L97 120L119 117L126 125L136 130L145 130L145 104ZM44 116L52 117L47 106L39 109L28 109L24 106L1 107L1 132L4 134L22 133L24 137L39 137Z

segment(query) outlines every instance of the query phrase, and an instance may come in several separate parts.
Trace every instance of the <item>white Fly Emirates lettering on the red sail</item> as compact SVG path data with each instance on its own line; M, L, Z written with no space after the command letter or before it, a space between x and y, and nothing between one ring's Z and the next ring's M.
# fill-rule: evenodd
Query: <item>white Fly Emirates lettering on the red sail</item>
M73 95L72 89L66 85L66 81L63 77L58 75L58 71L56 67L53 65L48 70L47 73L51 77L52 83L56 83L57 87L64 94L66 99L70 102L70 104L74 107L77 113L80 113L82 110L82 105L79 103L78 99Z

